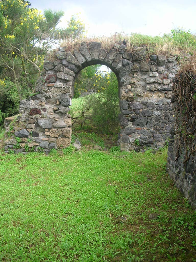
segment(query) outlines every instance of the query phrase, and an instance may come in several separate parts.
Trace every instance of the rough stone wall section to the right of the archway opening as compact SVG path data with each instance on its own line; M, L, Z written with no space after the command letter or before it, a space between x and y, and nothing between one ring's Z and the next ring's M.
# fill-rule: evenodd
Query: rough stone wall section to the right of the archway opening
M134 48L131 63L123 59L118 65L123 66L131 72L120 74L121 150L163 147L175 121L171 97L177 61L155 54L146 59L146 47L142 47Z

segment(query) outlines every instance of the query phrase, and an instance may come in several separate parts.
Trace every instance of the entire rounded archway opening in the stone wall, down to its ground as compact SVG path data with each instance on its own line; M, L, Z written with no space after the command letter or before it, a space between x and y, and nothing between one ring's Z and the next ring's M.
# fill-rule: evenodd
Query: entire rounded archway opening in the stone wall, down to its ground
M107 66L95 64L81 70L75 79L70 106L72 139L79 137L83 144L95 143L102 148L117 146L118 94L117 77Z

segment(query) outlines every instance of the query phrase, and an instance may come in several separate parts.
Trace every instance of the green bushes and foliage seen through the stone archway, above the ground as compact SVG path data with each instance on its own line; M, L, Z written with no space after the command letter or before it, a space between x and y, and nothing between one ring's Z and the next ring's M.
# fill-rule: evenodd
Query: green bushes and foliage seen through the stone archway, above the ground
M75 83L76 95L78 96L83 91L86 96L72 102L73 109L70 113L73 126L84 128L87 124L88 128L95 132L116 134L119 127L118 114L120 113L118 81L113 72L99 72L97 69L97 66L85 68Z

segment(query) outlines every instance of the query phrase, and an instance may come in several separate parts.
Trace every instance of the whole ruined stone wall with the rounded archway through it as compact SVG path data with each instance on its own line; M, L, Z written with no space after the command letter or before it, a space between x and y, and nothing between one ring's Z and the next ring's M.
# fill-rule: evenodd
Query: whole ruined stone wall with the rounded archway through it
M49 152L70 145L69 106L74 81L83 68L92 64L107 65L117 76L121 150L164 146L174 122L171 80L177 72L175 58L147 56L145 46L130 52L123 43L105 50L101 43L83 42L73 52L60 47L54 61L44 62L37 94L21 101L21 115L6 124L6 152Z

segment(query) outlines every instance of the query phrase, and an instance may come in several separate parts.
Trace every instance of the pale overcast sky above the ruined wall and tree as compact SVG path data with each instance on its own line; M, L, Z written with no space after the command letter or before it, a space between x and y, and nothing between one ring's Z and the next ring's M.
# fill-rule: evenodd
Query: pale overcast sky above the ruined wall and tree
M66 27L72 14L79 14L88 36L110 36L115 32L163 35L183 27L196 34L196 0L30 0L31 7L63 10L60 25Z

